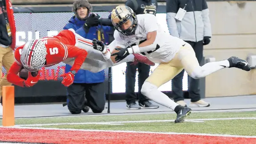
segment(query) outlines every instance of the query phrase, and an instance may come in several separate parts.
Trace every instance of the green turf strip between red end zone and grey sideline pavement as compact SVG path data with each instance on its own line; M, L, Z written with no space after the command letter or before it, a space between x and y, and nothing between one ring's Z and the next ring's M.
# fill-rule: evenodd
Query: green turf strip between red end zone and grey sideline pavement
M56 124L56 123L84 123L79 125L43 125L35 127L62 129L100 129L100 130L131 130L151 132L176 133L208 133L229 135L256 135L256 118L235 119L238 117L256 117L256 112L226 112L226 113L192 113L184 123L175 124L176 114L141 114L141 115L102 115L102 116L74 116L51 118L16 119L16 125ZM212 119L213 120L205 120ZM234 118L218 120L218 118ZM148 121L150 120L150 121ZM173 120L173 121L153 121ZM125 121L117 122L115 121ZM135 122L132 122L135 121ZM141 122L144 121L144 122ZM0 121L1 122L1 121ZM93 122L89 124L88 122ZM99 124L99 122L111 122ZM115 125L113 125L115 124ZM32 126L29 126L32 127Z

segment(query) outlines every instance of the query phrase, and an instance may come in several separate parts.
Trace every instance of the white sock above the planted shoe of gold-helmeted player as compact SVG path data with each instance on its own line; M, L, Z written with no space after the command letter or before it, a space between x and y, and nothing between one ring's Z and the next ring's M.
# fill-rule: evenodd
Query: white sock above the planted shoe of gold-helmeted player
M157 87L149 82L144 82L141 88L141 93L151 99L152 101L166 106L172 110L175 109L178 104L170 99L167 95L157 90Z

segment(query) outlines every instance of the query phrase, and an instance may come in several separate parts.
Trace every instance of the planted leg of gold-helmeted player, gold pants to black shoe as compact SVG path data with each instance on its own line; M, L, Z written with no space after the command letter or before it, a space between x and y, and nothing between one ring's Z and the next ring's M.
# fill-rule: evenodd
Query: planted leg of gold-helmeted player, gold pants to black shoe
M182 69L182 64L176 56L172 59L172 61L168 63L159 64L159 66L148 77L148 79L145 80L141 88L141 93L143 95L153 100L154 102L159 103L160 105L174 110L177 114L175 122L183 122L184 118L190 114L191 109L178 105L167 95L157 89L164 83L172 80L178 73L182 71Z

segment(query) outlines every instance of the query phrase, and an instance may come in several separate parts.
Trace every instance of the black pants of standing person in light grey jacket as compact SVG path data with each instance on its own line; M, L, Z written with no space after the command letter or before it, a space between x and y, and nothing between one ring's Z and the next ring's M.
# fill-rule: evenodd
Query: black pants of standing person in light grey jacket
M200 62L203 59L203 41L199 42L188 42L194 49L196 53L196 58ZM173 94L173 100L175 102L184 100L183 97L183 90L182 90L182 79L184 76L184 69L172 79L172 94ZM200 98L200 80L199 79L193 79L192 77L188 76L188 93L189 97L191 99L191 102L199 101Z

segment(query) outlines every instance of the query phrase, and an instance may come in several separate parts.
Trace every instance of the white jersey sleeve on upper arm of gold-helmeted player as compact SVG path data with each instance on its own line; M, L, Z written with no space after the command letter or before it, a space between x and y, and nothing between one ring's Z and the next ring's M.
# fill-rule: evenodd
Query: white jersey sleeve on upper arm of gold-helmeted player
M152 14L144 14L144 26L146 29L146 33L157 31L158 24L156 16Z

